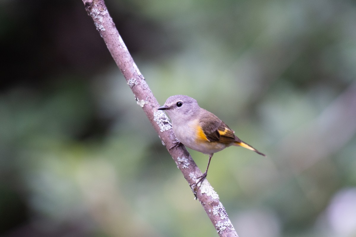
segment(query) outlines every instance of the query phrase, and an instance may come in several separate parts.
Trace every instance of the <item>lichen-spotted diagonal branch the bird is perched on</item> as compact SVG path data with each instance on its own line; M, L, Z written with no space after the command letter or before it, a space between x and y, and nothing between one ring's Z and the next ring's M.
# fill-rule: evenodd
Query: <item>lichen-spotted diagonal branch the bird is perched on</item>
M202 173L187 149L177 142L166 114L157 110L159 104L133 61L124 41L122 41L104 0L83 0L83 3L88 15L93 18L94 25L104 39L112 58L135 95L137 104L146 113L147 118L162 140L162 144L166 146L189 185L195 183L197 177L201 176ZM205 179L199 187L194 185L193 193L208 214L219 236L236 237L237 233L226 214L225 208L209 182Z

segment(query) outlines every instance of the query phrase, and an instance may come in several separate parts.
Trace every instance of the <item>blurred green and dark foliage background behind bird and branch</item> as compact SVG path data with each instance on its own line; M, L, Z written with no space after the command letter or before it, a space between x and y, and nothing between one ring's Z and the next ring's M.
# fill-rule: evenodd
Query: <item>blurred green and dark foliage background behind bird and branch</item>
M355 1L106 4L160 104L267 154L209 168L240 237L356 236ZM217 236L83 2L0 6L0 236Z

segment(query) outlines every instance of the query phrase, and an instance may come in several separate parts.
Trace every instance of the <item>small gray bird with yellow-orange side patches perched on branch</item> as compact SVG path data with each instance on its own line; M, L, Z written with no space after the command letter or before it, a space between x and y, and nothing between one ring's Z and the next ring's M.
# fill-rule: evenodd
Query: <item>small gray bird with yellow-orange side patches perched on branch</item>
M169 97L158 110L166 111L172 122L172 129L180 143L209 155L208 166L195 184L201 183L208 174L214 153L229 146L242 146L266 156L246 142L240 140L235 131L231 130L213 113L199 107L197 100L185 95ZM192 186L192 185L191 185Z

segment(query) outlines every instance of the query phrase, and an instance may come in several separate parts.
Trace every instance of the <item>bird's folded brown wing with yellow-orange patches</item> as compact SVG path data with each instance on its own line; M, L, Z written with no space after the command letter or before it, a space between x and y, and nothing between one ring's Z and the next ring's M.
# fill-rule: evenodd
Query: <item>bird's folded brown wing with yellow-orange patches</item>
M210 112L208 113L208 116L200 119L200 125L209 141L224 143L241 142L241 140L235 136L234 131L232 131L223 121L214 114Z

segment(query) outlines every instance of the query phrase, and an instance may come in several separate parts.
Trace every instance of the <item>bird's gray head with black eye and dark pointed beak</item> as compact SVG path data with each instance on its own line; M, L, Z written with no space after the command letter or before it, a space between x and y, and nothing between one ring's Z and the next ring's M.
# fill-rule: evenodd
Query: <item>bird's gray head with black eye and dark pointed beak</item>
M194 118L200 111L198 102L189 96L176 95L166 100L160 110L167 111L172 123L179 123Z

